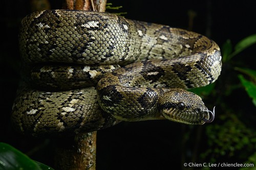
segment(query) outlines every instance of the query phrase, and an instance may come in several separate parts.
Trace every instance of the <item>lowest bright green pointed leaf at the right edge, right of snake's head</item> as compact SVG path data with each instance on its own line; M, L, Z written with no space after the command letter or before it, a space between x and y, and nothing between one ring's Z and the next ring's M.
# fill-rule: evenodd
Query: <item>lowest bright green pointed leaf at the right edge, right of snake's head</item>
M256 85L253 82L246 80L243 75L238 75L238 78L245 87L247 94L252 98L252 103L256 106Z

